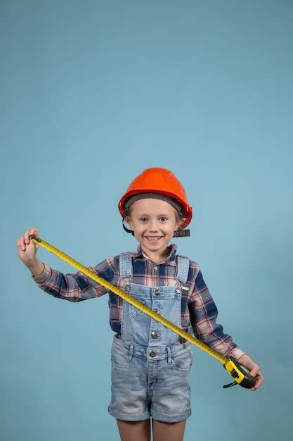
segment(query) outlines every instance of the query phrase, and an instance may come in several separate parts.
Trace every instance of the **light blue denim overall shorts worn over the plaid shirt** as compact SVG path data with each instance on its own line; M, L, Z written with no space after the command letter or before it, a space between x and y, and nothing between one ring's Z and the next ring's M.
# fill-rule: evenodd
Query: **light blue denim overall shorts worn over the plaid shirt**
M177 256L174 286L147 287L131 282L131 253L119 255L124 290L181 328L181 289L189 260ZM173 285L172 283L170 285ZM188 376L193 362L189 342L124 301L121 335L111 350L111 402L108 411L124 421L175 423L191 414Z

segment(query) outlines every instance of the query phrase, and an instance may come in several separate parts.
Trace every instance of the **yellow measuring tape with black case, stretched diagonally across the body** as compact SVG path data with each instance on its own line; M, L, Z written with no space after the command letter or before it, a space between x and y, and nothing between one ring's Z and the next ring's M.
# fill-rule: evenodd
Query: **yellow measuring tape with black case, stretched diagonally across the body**
M96 282L100 283L100 285L103 285L104 287L108 288L109 291L112 291L115 294L117 294L119 297L122 297L122 299L126 300L126 302L136 306L137 309L140 309L145 314L148 314L148 316L150 316L151 318L154 318L154 320L158 321L159 323L162 323L162 325L171 329L174 333L180 335L185 340L188 340L188 342L195 344L195 346L202 349L202 351L207 352L207 354L213 356L214 359L221 361L224 368L226 368L228 373L230 373L230 375L232 375L232 377L235 380L233 383L223 386L224 388L239 384L240 386L245 387L246 389L250 389L255 385L256 379L252 377L252 375L249 374L247 368L245 368L245 366L242 366L233 356L230 356L230 358L227 359L219 352L216 352L214 349L211 349L211 347L207 346L207 344L204 344L203 342L200 342L200 340L197 340L197 338L193 337L193 335L190 335L186 333L183 329L178 328L178 326L174 325L174 323L167 320L167 318L160 316L159 313L152 311L152 309L148 308L148 306L145 306L137 299L134 299L134 297L132 297L130 294L127 294L126 292L117 288L115 285L112 285L112 283L101 278L96 273L93 273L93 271L89 270L89 268L86 268L86 266L82 265L82 263L79 263L78 261L72 259L72 257L63 253L63 251L60 251L60 249L57 249L53 247L53 245L48 244L48 242L45 242L44 240L40 239L40 237L37 237L36 235L31 235L30 239L32 239L37 244L41 245L41 247L44 247L48 251L51 251L51 253L60 257L60 259L69 263L74 268L77 268L77 270L82 271L82 273L88 275L91 279L96 280Z

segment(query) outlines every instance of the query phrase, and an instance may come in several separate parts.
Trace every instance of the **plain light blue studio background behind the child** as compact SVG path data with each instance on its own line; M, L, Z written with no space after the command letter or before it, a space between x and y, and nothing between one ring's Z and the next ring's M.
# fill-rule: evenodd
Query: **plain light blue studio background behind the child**
M1 421L5 441L118 440L108 298L39 290L31 227L86 266L136 248L117 202L145 168L185 185L219 323L265 375L195 348L185 441L292 431L292 1L1 1ZM52 268L74 268L45 249Z

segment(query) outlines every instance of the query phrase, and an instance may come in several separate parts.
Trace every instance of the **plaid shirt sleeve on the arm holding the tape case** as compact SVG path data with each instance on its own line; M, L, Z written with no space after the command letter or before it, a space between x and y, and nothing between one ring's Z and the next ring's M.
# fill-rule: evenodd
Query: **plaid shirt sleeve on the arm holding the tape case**
M245 354L233 342L230 335L223 333L222 325L216 323L218 309L204 282L201 271L196 275L188 308L195 337L227 358L234 356L235 359L240 359L240 356Z

